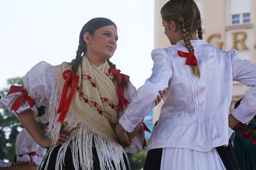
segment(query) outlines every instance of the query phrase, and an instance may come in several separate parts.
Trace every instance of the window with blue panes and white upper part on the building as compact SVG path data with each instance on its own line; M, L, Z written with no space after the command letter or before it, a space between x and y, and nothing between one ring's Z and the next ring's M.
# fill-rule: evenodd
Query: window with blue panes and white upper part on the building
M252 0L229 0L230 25L251 23Z

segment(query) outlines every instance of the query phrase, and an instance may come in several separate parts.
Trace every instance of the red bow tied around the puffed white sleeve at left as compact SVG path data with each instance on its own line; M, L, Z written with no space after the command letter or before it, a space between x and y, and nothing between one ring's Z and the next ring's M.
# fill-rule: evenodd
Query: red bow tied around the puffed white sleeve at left
M17 100L15 100L10 111L14 110L16 112L20 107L20 103L22 99L25 99L29 103L30 108L32 108L33 105L35 105L35 100L29 97L28 92L23 87L20 87L20 86L11 85L10 91L6 96L12 93L17 93L17 92L23 92L23 94Z

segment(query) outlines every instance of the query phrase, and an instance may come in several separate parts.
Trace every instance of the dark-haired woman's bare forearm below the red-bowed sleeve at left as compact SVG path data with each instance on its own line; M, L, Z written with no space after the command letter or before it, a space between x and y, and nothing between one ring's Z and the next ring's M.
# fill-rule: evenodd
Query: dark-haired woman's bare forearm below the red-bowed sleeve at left
M20 122L23 124L23 127L27 130L29 135L37 142L39 145L42 145L43 140L46 138L42 133L40 127L38 126L33 113L30 109L23 111L22 113L17 113Z

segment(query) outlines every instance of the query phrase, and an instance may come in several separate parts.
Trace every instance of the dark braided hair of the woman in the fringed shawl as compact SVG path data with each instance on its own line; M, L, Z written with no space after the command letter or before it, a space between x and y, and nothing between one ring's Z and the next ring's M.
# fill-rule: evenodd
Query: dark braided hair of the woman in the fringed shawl
M107 18L93 18L92 20L88 21L83 26L83 28L80 32L80 35L79 35L79 45L78 45L78 49L76 51L76 59L73 59L71 61L72 71L74 73L77 72L80 63L83 60L82 54L83 53L86 54L86 51L87 51L87 46L86 46L86 43L84 42L84 33L88 32L90 35L93 36L94 32L97 29L105 27L105 26L114 26L117 29L116 24ZM112 62L110 62L109 59L107 61L111 68L116 68L116 65L114 65ZM71 83L71 81L69 83ZM127 82L124 79L122 79L121 85L125 86L125 85L127 85Z

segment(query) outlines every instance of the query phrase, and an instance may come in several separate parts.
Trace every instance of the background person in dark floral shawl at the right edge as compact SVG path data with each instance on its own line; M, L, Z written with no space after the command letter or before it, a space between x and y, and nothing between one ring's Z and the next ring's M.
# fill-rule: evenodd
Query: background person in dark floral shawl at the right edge
M236 102L238 108L242 99ZM239 123L233 130L236 135L233 141L234 150L241 170L256 170L256 122L255 117L247 125Z

